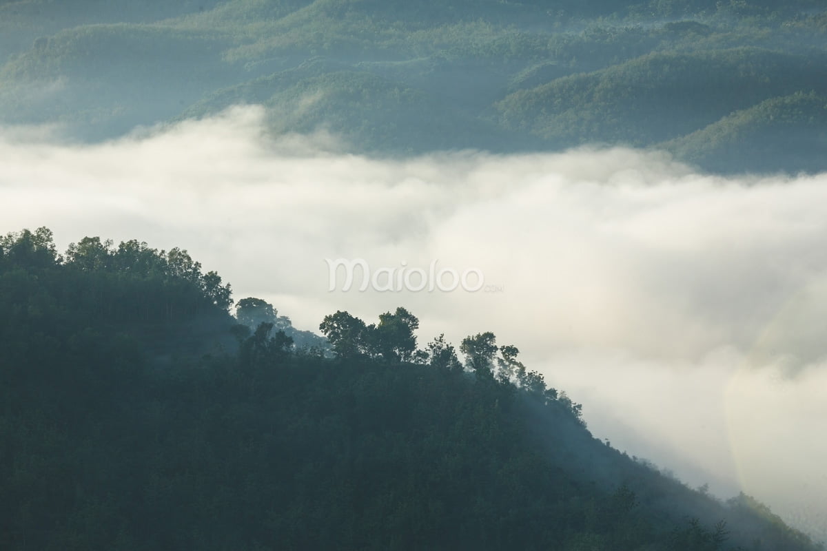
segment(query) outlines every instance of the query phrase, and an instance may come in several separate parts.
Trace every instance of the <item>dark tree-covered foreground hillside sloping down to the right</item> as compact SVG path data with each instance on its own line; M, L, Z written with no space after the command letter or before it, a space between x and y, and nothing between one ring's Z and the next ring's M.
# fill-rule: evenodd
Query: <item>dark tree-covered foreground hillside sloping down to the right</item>
M297 347L232 304L182 249L0 238L0 549L818 549L592 438L495 335L461 362L400 307Z

